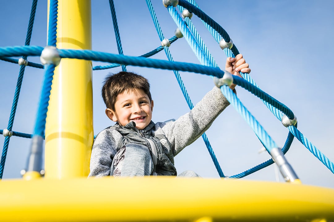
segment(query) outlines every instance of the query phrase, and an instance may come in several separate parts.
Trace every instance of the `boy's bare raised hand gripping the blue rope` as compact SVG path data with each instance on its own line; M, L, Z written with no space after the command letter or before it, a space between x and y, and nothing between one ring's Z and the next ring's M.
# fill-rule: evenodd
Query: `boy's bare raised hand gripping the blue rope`
M225 65L225 70L229 73L231 73L234 76L241 77L240 71L242 73L250 73L251 69L249 69L248 63L246 63L245 59L242 58L241 54L236 55L235 58L228 57L226 59L226 65ZM230 86L230 89L235 88L235 84L232 84Z

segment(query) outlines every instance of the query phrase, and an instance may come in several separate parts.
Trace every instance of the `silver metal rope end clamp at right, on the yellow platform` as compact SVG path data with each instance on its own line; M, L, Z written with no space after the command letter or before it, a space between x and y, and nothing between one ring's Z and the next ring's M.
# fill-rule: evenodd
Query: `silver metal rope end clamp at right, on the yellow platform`
M276 162L285 181L294 182L295 180L299 179L297 174L285 158L281 148L273 148L270 151L270 155L272 156L272 159Z

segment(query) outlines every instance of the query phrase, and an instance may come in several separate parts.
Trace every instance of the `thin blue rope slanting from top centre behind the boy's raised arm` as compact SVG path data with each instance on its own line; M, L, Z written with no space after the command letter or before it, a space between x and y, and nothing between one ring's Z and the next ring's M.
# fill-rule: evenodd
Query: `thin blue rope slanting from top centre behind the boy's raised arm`
M149 8L149 11L151 13L151 17L152 17L152 20L154 22L154 25L155 25L155 28L157 30L157 33L159 35L160 41L162 41L165 37L164 37L164 35L162 33L162 30L160 28L160 25L159 25L159 22L158 22L158 18L157 18L156 14L155 14L155 11L153 9L153 5L151 3L151 0L146 0L146 3L147 3L147 6ZM165 53L166 53L166 56L167 56L168 60L169 61L173 61L173 57L172 57L172 55L170 53L169 48L168 47L164 47L164 50L165 50ZM189 107L190 110L192 110L194 108L194 105L191 102L191 99L189 97L189 94L188 94L185 86L184 86L184 83L183 83L183 81L181 79L181 76L180 76L180 74L179 74L178 71L173 70L173 72L174 72L174 75L175 75L175 77L177 79L177 82L179 83L179 86L181 88L183 96L184 96L185 100L187 101L188 107ZM202 138L203 138L204 143L205 143L205 145L206 145L206 147L207 147L207 149L208 149L208 151L210 153L210 156L211 156L212 161L213 161L213 163L214 163L214 165L215 165L215 167L216 167L216 169L218 171L219 176L220 177L224 177L223 171L221 170L221 167L220 167L220 165L218 163L216 155L214 154L212 146L211 146L211 144L210 144L210 142L209 142L209 140L208 140L205 132L202 134Z

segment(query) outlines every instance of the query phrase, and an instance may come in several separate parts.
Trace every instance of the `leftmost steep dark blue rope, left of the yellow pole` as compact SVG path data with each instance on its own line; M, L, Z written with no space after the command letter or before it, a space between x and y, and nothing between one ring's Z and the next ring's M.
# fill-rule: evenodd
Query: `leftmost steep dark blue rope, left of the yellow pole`
M32 2L32 6L31 6L30 18L29 18L28 29L27 29L27 35L26 35L26 39L25 39L25 45L30 44L32 27L33 27L33 24L34 24L34 18L35 18L35 13L36 13L36 6L37 6L37 0L34 0ZM26 60L27 56L23 56L23 59ZM15 93L14 93L12 109L11 109L11 112L10 112L8 126L7 126L7 129L9 131L12 130L13 123L14 123L14 117L15 117L15 113L16 113L18 99L19 99L19 96L20 96L24 70L25 70L25 65L21 65L20 71L19 71L19 76L18 76L18 79L17 79L16 89L15 89ZM6 156L7 156L8 145L9 145L9 138L10 138L9 136L6 136L4 146L3 146L3 149L2 149L2 155L1 155L1 161L0 161L0 179L2 179L3 170L4 170L4 167L5 167Z

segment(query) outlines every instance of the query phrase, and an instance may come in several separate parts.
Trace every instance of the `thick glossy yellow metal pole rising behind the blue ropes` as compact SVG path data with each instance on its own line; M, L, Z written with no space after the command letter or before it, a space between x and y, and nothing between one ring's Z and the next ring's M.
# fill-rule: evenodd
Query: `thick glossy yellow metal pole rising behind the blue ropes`
M58 49L92 49L90 0L59 0ZM87 176L94 140L92 62L61 59L45 126L45 178Z

